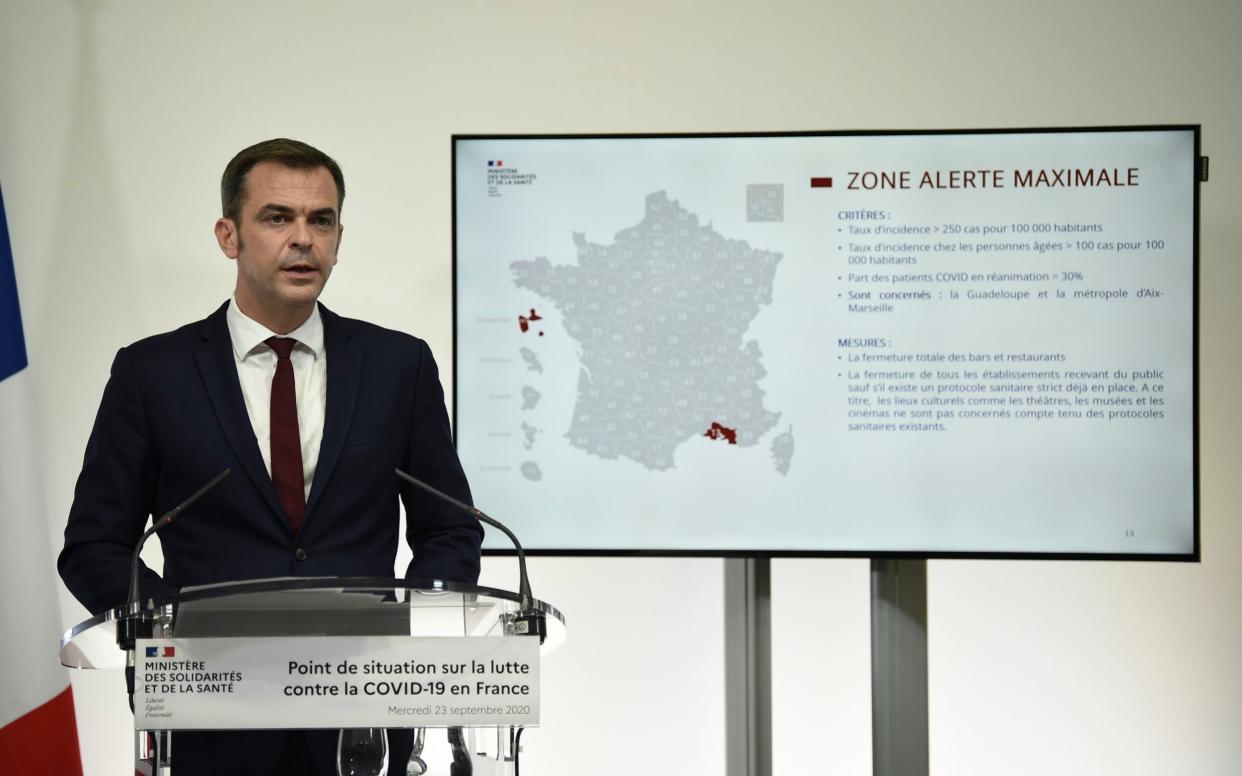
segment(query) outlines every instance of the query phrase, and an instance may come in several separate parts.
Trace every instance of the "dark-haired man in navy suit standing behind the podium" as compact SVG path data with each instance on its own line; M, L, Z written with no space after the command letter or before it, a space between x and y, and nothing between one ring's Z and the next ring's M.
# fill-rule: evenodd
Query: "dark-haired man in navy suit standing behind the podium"
M399 498L406 576L474 582L482 529L392 473L469 500L431 351L318 305L343 233L339 166L268 140L230 161L221 199L233 298L117 354L65 529L66 586L92 612L120 606L147 520L230 467L160 533L164 571L143 567L144 600L242 579L389 577ZM174 756L179 776L330 776L334 745L329 733L179 734ZM407 752L394 741L391 774Z

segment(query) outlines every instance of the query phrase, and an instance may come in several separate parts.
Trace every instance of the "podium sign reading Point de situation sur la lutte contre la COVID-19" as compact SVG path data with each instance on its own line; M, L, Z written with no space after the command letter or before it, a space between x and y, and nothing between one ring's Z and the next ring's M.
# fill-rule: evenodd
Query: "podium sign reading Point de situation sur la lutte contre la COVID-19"
M140 639L139 730L532 726L539 639Z

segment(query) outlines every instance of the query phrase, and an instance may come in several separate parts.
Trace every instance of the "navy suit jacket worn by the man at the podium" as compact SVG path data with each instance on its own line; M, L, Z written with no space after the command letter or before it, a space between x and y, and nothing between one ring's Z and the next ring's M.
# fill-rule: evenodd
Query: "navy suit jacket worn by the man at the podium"
M392 473L469 503L443 390L426 343L320 305L328 396L310 497L294 535L246 413L227 303L205 320L122 348L87 443L58 567L92 613L124 603L134 544L225 468L232 474L163 529L164 574L143 598L186 585L274 576L394 574L397 498L407 579L474 582L482 529Z

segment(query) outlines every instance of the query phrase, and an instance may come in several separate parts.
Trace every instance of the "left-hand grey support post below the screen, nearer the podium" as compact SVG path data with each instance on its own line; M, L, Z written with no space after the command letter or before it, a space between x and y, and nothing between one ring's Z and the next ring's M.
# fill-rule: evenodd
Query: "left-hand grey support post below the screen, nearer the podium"
M771 561L724 559L727 776L771 776Z

